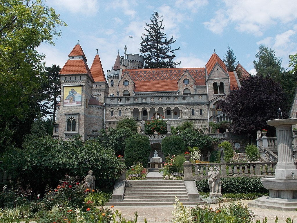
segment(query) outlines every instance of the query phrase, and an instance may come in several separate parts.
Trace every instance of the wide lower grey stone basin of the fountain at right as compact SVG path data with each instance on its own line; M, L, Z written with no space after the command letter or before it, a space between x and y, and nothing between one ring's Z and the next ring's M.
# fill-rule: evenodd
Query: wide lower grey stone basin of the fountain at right
M297 191L297 179L260 178L263 187L269 190Z

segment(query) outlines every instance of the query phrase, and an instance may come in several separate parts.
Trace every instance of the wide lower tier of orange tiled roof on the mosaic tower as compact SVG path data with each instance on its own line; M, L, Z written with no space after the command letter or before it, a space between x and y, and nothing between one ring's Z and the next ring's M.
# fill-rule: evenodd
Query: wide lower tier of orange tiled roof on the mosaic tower
M69 59L61 69L60 75L86 74L94 81L91 71L83 59Z

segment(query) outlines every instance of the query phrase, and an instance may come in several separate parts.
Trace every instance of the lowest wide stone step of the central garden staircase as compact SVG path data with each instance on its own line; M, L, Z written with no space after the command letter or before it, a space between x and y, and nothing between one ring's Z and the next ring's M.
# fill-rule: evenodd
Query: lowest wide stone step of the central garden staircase
M105 204L105 206L172 206L175 201L162 201L162 202L135 202L135 203L130 203L130 202L108 202ZM183 205L203 205L206 204L204 201L200 202L194 202L194 201L184 201L182 202Z

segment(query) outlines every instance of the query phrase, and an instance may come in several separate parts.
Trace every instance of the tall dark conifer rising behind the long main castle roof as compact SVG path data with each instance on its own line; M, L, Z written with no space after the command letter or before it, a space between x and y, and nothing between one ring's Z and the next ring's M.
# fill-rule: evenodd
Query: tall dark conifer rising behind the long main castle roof
M144 68L172 68L181 63L173 62L176 56L174 52L179 50L179 47L171 49L170 44L176 40L173 40L173 37L169 40L166 38L162 17L159 17L158 12L154 12L150 18L151 23L146 23L147 28L144 28L147 34L142 33L139 51L143 53Z

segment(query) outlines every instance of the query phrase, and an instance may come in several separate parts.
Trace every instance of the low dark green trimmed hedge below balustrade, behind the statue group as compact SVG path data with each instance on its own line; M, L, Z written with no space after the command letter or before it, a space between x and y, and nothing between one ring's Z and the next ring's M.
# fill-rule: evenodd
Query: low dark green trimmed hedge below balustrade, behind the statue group
M222 193L267 193L260 178L228 177L221 178ZM209 192L208 179L195 181L198 191Z

